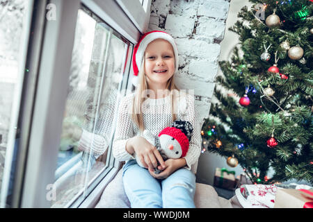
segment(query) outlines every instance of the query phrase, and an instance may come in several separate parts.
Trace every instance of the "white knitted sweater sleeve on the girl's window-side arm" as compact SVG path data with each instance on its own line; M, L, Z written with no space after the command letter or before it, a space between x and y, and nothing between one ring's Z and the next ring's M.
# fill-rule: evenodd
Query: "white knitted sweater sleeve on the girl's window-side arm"
M113 139L113 156L118 161L127 161L134 159L134 156L126 151L127 140L134 136L131 112L129 112L129 103L131 103L131 94L123 97L118 108L118 117Z

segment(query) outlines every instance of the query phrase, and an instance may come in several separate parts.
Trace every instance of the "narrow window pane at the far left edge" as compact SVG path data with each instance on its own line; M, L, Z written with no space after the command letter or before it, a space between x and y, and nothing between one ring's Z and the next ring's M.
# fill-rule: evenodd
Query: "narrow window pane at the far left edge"
M13 151L18 140L15 126L17 126L19 106L14 106L14 104L19 104L19 94L24 78L24 76L19 76L21 74L19 69L21 69L21 55L24 48L21 36L23 36L28 5L29 1L24 0L0 1L0 189L3 189L6 155ZM12 162L12 167L15 166L15 157L16 153L13 153L12 159L6 160ZM10 171L10 168L6 170ZM10 185L13 182L13 173L14 169L9 175L6 175ZM8 188L9 202L11 188L11 186ZM1 194L2 192L0 192ZM3 196L0 196L0 200L3 200Z

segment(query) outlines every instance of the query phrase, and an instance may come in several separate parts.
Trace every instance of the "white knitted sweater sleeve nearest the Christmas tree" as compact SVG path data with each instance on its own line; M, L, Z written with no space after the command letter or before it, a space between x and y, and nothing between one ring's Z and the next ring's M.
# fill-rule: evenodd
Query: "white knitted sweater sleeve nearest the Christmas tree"
M193 135L189 142L189 148L184 157L187 163L186 169L191 170L191 166L198 161L201 153L201 133L200 123L198 121L199 112L195 106L194 96L186 94L186 111L184 112L184 121L189 121L193 126Z

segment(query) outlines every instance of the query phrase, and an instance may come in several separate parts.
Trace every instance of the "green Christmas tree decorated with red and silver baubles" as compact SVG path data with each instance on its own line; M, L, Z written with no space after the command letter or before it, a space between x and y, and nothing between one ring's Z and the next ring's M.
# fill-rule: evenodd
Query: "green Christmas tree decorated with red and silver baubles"
M230 28L241 49L219 62L224 76L216 78L202 152L240 164L254 183L312 183L312 1L250 1Z

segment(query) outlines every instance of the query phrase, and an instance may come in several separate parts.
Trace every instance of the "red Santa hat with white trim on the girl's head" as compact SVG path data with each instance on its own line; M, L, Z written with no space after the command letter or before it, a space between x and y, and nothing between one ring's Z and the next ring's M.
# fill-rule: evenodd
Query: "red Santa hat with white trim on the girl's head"
M134 76L133 76L133 84L136 85L137 78L138 78L138 72L141 69L141 65L143 64L143 54L145 53L145 49L147 48L147 45L152 42L153 40L157 39L163 39L170 42L172 45L172 49L174 50L174 56L175 56L175 72L178 71L178 51L177 46L175 44L174 38L163 31L150 31L148 33L145 33L141 38L139 39L138 43L134 47L134 53L133 53L133 70L134 70Z

